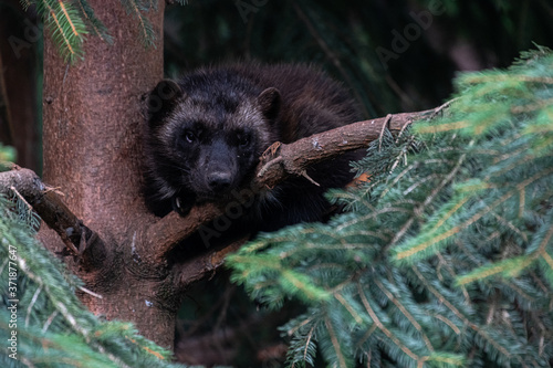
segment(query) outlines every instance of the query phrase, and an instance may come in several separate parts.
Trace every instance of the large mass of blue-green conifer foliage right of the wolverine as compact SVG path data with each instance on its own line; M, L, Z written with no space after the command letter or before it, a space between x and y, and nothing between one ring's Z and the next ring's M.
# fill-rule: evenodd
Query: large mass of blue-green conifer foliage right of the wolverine
M550 367L553 54L470 73L441 116L383 135L327 224L263 234L229 257L252 298L306 312L288 366Z

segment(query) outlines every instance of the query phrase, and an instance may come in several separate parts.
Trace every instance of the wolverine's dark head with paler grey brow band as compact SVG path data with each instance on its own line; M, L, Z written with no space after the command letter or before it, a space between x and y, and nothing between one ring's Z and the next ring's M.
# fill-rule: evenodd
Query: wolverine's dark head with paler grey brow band
M260 92L231 73L161 81L148 105L148 167L160 198L223 198L251 178L276 140L279 91Z

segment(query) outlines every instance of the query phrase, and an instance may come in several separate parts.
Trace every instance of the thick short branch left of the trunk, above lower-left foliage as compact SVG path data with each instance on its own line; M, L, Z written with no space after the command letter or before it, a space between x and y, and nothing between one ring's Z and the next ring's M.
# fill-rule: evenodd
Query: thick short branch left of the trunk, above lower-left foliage
M87 269L102 264L105 259L102 240L83 224L60 196L52 188L48 188L34 171L13 165L10 171L0 172L0 193L10 194L13 189L60 235L69 254L82 257L82 264Z

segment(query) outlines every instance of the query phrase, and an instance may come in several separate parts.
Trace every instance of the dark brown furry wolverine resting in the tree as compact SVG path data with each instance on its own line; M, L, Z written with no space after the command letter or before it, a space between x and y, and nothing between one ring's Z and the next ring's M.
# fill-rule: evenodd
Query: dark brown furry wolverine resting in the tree
M261 155L361 119L346 90L307 65L258 63L211 66L178 81L164 80L148 97L145 127L145 200L157 215L186 215L202 202L237 200L255 175ZM323 221L324 192L353 179L357 153L316 164L252 193L240 221L253 231Z

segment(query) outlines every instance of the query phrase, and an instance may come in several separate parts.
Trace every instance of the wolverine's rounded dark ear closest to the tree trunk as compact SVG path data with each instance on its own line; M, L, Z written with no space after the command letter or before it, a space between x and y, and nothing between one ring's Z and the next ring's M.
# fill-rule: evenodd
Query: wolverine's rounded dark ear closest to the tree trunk
M150 126L161 123L161 118L167 115L184 93L180 86L171 80L160 81L147 96L147 115Z

